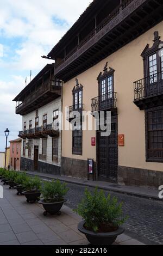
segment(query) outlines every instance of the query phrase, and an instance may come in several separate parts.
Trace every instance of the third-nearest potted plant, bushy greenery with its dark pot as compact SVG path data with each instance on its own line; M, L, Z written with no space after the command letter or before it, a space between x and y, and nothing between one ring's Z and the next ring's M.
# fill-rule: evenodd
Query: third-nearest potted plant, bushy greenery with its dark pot
M41 196L41 179L37 176L35 178L28 178L23 182L24 192L22 194L26 196L27 203L35 203L40 200Z

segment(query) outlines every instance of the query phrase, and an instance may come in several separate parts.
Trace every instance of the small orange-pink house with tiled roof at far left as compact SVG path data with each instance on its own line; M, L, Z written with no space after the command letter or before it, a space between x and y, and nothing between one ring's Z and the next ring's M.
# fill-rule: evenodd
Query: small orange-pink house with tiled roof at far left
M20 170L22 139L10 141L10 169Z

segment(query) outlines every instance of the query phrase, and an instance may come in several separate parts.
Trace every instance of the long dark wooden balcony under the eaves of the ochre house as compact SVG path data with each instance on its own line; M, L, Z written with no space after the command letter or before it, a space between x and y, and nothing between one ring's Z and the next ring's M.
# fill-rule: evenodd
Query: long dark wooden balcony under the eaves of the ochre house
M55 66L66 82L108 57L162 20L161 0L124 0ZM55 49L55 47L54 47ZM53 50L48 54L53 57Z

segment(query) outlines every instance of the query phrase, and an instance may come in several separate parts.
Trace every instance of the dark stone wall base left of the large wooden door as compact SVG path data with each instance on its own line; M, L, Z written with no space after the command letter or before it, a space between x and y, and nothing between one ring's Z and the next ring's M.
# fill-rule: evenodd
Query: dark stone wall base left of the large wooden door
M61 157L61 175L87 179L87 161ZM94 178L96 179L96 163ZM89 175L89 179L93 179L93 176Z

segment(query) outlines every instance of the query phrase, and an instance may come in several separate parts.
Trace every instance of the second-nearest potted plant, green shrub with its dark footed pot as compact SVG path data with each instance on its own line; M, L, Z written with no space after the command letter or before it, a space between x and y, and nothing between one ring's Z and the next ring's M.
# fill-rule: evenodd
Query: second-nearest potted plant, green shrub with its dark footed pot
M59 180L53 180L52 182L45 181L41 190L43 199L39 202L45 209L43 215L46 216L48 213L51 215L60 215L60 209L66 202L64 197L67 192L68 188L65 183L62 184Z

